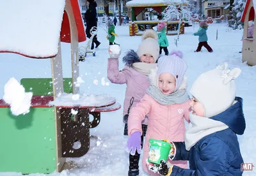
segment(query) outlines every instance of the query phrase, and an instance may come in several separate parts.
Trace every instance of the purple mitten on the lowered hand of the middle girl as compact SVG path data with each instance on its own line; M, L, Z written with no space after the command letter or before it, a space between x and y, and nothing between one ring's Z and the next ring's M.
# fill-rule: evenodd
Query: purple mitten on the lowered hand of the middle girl
M135 155L136 150L138 154L141 153L141 132L133 132L127 142L127 150L132 156Z

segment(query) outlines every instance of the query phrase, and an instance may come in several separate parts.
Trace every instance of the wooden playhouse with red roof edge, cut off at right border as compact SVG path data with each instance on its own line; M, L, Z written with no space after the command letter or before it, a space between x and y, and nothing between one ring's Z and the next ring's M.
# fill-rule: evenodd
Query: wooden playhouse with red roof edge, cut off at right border
M247 61L248 65L256 65L256 28L254 26L253 33L254 35L248 36L248 22L253 21L255 23L255 5L256 1L247 0L244 12L241 17L241 21L244 22L244 31L243 31L243 51L242 51L242 59L243 61ZM255 39L255 40L254 40Z

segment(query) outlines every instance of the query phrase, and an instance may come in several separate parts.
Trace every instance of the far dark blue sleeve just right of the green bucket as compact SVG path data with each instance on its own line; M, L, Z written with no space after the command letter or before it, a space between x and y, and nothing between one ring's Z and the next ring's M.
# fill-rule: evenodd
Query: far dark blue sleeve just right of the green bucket
M186 150L185 143L184 142L173 142L176 148L176 154L172 160L183 160L188 161L189 160L189 151Z

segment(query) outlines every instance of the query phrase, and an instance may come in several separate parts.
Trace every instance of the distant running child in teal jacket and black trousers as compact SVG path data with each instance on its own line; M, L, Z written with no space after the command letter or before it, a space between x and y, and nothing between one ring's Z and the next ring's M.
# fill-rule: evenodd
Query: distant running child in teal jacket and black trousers
M195 52L200 52L203 46L207 49L207 51L213 52L212 48L207 44L208 38L206 31L208 28L208 24L206 24L205 21L201 21L199 23L199 26L200 28L198 29L198 31L196 33L193 33L193 35L198 36L199 40L199 44Z

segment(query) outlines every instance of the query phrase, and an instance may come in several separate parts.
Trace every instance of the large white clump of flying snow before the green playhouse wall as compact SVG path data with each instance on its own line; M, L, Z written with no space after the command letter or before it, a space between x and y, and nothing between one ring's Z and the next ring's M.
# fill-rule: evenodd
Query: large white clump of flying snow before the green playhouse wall
M33 93L25 92L25 89L15 78L10 78L4 85L3 100L10 104L10 110L15 116L29 113Z

